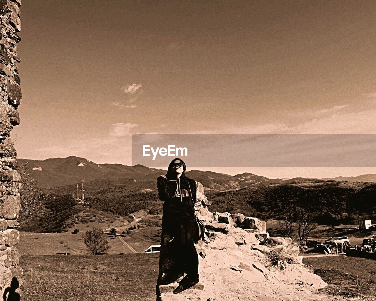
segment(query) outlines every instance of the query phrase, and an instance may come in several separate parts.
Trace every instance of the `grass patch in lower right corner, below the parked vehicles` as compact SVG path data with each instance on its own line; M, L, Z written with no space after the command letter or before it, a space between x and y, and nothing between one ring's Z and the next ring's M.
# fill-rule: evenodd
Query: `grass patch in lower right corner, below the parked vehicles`
M329 284L323 292L376 300L376 260L327 256L303 258L303 263L312 265L315 274Z

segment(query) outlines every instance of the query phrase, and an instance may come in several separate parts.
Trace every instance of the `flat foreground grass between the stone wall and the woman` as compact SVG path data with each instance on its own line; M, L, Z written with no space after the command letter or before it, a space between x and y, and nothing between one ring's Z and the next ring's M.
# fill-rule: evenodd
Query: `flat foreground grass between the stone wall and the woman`
M23 299L155 300L159 253L22 255Z

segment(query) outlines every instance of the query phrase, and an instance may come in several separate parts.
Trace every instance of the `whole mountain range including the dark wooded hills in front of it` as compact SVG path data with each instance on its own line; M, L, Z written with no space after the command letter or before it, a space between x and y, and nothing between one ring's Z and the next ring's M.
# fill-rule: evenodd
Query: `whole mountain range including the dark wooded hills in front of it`
M142 165L97 164L74 156L17 161L21 171L29 173L46 193L45 207L50 211L48 217L36 220L29 230L66 231L85 222L85 218L100 221L106 214L129 217L140 210L156 215L162 212L156 178L166 170ZM310 207L315 221L320 223L353 223L358 219L376 218L373 182L269 179L252 173L231 176L200 170L186 174L203 184L205 194L212 201L212 211L270 219L280 217L284 208L299 203ZM81 198L82 180L89 209L77 201Z

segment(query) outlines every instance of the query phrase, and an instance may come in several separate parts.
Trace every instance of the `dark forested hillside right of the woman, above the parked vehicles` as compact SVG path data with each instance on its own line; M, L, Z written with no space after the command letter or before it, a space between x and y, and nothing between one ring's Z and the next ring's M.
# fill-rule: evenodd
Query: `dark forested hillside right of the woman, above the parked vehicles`
M285 208L302 204L318 223L338 225L376 218L376 185L358 187L326 181L321 185L272 187L209 193L213 211L240 212L261 219L278 218Z

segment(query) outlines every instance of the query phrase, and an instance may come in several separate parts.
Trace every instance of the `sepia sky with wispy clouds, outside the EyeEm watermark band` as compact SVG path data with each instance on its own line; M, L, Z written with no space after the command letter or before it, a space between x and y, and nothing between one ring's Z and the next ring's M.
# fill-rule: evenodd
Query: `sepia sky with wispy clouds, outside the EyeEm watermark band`
M375 19L374 1L24 1L18 157L130 164L132 133L376 134ZM376 173L249 167L211 170Z

